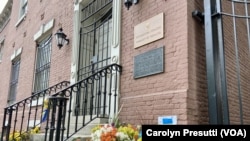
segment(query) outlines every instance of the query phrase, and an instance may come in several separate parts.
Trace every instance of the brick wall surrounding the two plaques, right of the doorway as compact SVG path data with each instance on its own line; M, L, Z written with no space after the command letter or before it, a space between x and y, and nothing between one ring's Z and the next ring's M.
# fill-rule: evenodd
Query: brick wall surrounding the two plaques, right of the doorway
M177 115L178 124L207 122L204 32L192 19L195 7L201 8L202 2L141 0L129 11L123 7L120 117L124 122L156 124L158 116L168 115ZM161 12L165 37L134 49L134 26ZM161 46L165 46L165 72L134 79L133 57Z

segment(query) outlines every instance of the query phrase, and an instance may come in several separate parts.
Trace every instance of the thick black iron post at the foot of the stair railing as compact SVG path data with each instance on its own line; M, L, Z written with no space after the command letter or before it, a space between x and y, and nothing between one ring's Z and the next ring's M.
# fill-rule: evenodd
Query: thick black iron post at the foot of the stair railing
M55 96L49 97L50 106L52 107L49 141L53 141L54 131L56 131L55 141L60 141L60 138L61 140L63 140L63 133L65 130L64 121L66 115L67 100L68 98L65 97L55 97ZM57 114L57 123L55 127L56 114Z

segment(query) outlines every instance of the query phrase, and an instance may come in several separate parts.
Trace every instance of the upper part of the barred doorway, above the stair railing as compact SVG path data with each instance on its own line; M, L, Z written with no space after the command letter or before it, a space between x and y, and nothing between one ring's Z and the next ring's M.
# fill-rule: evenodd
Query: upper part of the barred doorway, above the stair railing
M82 9L79 47L78 79L88 77L97 70L110 64L111 59L111 31L112 31L112 0L92 1ZM88 21L91 16L94 21Z

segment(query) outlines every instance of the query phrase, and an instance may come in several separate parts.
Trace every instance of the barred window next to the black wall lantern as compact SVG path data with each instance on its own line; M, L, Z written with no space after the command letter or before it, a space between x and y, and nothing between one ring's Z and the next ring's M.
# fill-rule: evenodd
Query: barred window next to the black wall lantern
M38 44L34 92L48 88L51 61L51 36Z

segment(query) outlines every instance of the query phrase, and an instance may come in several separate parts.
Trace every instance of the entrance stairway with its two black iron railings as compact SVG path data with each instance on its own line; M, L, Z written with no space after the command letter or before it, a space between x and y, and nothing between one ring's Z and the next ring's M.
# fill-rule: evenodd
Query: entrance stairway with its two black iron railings
M93 126L108 121L117 112L118 78L122 67L108 65L89 77L70 85L64 81L32 94L4 108L1 141L9 141L40 127L34 141L89 139Z

